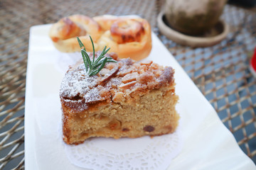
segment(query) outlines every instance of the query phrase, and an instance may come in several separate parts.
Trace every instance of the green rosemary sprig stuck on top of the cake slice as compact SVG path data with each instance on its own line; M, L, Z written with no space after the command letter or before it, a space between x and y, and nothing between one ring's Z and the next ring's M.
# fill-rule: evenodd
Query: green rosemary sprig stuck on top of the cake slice
M82 60L85 63L86 72L89 76L93 76L93 75L97 74L98 72L100 72L100 70L103 69L103 67L105 66L105 64L107 62L117 62L117 61L113 60L112 57L105 57L107 52L110 50L110 47L107 48L106 46L102 50L99 57L97 57L97 60L95 60L95 47L94 47L91 37L90 37L90 40L92 42L92 61L90 60L90 57L85 50L85 45L82 44L82 42L79 38L78 38L78 43L81 48Z

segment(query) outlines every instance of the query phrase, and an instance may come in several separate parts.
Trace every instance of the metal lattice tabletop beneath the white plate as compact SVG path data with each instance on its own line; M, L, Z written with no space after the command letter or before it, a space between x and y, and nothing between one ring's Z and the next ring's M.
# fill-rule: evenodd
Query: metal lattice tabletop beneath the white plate
M24 167L24 101L29 28L81 13L137 14L159 38L213 105L238 144L256 162L256 79L249 59L256 47L256 13L225 6L228 37L213 47L177 45L156 28L164 1L0 1L0 169ZM104 6L104 7L102 7Z

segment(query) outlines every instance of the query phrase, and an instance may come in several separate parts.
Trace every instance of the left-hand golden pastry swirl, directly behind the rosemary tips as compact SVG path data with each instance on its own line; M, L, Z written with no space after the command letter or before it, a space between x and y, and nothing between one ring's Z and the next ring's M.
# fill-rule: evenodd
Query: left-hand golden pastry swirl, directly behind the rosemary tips
M101 35L100 25L92 18L82 15L61 18L60 21L53 24L49 32L53 45L60 52L80 51L77 37L80 38L87 51L92 51L89 35L97 42ZM97 43L95 43L95 50L97 48Z

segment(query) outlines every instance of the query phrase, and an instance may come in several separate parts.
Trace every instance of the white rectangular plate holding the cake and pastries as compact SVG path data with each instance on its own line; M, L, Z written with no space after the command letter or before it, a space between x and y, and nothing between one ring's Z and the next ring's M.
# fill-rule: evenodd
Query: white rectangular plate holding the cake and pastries
M30 32L26 74L26 170L81 169L70 164L57 138L60 132L60 52L48 37L50 25ZM152 33L153 48L147 60L176 70L176 94L183 149L169 169L255 169L213 107L201 94L161 41Z

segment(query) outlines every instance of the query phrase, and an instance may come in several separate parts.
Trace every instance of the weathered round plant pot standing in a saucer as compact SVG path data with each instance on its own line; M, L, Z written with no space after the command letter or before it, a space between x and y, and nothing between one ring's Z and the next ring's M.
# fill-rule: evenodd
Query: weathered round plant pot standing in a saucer
M166 0L166 20L181 33L200 35L219 21L226 1Z

